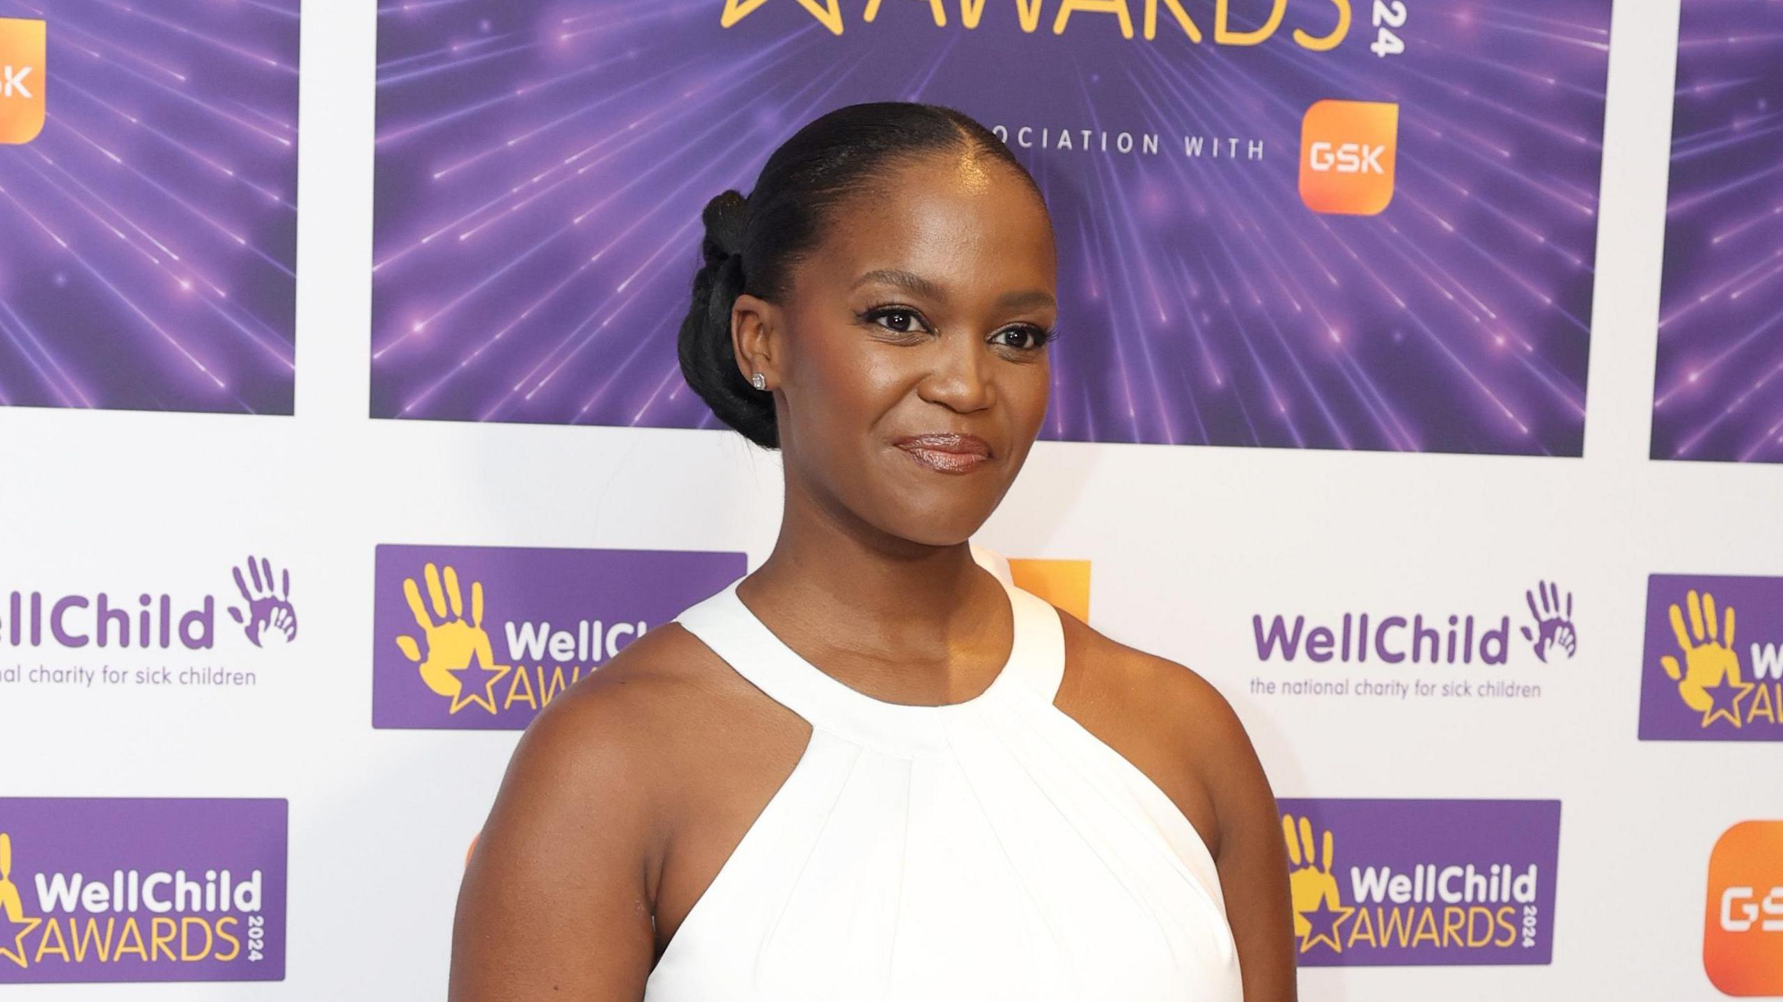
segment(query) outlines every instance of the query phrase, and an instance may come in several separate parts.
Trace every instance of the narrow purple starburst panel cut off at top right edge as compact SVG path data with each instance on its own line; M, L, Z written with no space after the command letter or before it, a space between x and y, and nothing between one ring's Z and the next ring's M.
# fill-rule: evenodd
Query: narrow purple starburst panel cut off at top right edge
M1683 0L1653 458L1783 462L1783 0Z

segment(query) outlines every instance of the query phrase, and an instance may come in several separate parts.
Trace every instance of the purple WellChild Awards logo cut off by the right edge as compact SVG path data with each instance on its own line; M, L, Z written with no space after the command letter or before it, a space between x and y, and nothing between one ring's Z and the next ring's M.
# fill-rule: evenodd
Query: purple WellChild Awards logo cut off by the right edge
M1783 578L1647 578L1640 738L1783 740Z

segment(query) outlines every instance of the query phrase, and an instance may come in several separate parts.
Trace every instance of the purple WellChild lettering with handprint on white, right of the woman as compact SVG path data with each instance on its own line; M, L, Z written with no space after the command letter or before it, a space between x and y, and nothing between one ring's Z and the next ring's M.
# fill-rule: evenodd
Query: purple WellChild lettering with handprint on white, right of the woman
M1573 620L1573 594L1560 585L1539 581L1523 594L1530 620L1519 633L1530 654L1539 661L1571 660L1578 653L1578 628ZM1508 665L1521 651L1512 635L1510 613L1498 617L1460 615L1380 615L1343 613L1328 622L1309 620L1305 615L1252 615L1252 637L1259 661L1332 661L1355 665L1359 670L1403 670L1410 667L1498 667ZM1368 697L1466 697L1466 699L1519 699L1541 697L1541 685L1503 678L1405 679L1393 674L1380 678L1305 678L1277 681L1253 678L1257 695L1368 695Z

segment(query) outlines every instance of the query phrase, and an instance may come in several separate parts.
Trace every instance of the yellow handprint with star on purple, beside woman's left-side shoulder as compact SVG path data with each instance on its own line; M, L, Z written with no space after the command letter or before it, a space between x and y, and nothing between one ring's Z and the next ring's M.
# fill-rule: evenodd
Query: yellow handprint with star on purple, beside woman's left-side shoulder
M494 645L483 629L483 583L471 583L471 615L465 619L456 571L448 565L442 578L440 569L430 562L423 569L423 579L428 585L431 615L421 603L421 587L414 578L403 578L403 597L408 599L408 612L415 613L426 654L414 637L398 637L396 645L419 667L421 681L428 688L451 699L449 713L471 702L494 713L496 683L514 667L496 663Z

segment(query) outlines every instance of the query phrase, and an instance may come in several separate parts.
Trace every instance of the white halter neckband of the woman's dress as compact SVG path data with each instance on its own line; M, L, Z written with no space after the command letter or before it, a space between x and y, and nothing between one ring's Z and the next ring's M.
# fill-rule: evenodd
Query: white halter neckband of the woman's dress
M949 724L990 711L1011 699L1038 695L1052 702L1064 672L1063 628L1052 604L1022 590L993 567L986 571L1009 599L1013 640L990 685L959 702L890 702L829 676L768 629L738 597L736 585L744 578L686 610L678 620L733 670L815 729L881 751L940 754L949 747Z

